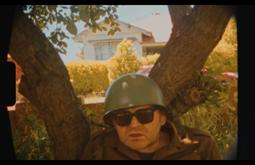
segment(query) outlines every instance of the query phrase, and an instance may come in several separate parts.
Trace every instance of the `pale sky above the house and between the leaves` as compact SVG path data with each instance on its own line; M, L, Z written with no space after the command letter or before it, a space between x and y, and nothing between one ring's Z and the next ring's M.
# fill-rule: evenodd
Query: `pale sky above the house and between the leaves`
M170 36L171 27L169 28L168 26L172 25L167 5L119 5L117 15L121 21L144 28L145 30L161 32L159 35L154 36L156 41L167 41ZM160 15L160 17L155 18L155 23L153 22L152 24L148 18L155 15ZM76 27L78 33L85 29L83 23L77 23ZM49 27L49 31L52 29L54 27ZM48 35L49 31L45 30L44 33ZM81 44L73 41L73 37L71 36L70 39L65 40L68 45L66 55L60 55L65 64L77 59L76 54L82 48Z

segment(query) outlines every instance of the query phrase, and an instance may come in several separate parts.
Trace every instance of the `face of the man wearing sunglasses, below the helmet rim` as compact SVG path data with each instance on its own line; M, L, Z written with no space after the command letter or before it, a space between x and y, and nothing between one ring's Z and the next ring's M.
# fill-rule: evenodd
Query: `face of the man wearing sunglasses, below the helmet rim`
M127 114L130 116L130 114L134 113L138 116L138 119L136 116L133 116L130 124L125 124L125 121L124 124L123 122L121 124L121 121L125 120ZM113 119L113 123L122 143L140 152L145 152L148 149L151 151L157 147L159 143L160 127L166 122L165 115L159 110L153 110L151 106L145 105L125 111L121 110L117 112L115 116L116 115L118 117ZM141 118L141 121L139 121L139 118ZM117 121L118 119L119 121Z

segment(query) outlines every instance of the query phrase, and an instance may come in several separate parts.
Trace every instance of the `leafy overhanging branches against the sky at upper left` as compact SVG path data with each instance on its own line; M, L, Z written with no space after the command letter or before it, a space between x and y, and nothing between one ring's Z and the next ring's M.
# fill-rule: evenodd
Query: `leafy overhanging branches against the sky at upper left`
M108 30L109 35L120 31L115 21L118 18L116 5L25 5L23 11L41 30L55 26L47 37L62 54L66 53L65 39L77 34L76 23L83 22L93 32ZM98 21L105 24L99 24ZM110 25L111 28L107 29L105 25Z

